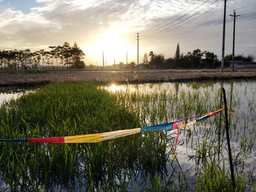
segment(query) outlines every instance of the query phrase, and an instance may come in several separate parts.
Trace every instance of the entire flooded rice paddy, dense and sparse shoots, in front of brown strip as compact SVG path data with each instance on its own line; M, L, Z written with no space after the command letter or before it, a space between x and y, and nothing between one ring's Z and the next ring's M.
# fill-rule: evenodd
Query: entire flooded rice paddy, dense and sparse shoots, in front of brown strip
M225 113L177 130L139 132L99 143L0 142L0 191L255 191L256 82L138 85L53 83L6 100L0 139L65 137ZM129 92L129 88L131 92Z

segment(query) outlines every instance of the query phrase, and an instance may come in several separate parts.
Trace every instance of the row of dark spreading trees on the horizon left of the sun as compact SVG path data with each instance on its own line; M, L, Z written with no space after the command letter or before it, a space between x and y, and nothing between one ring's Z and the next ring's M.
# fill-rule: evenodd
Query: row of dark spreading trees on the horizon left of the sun
M44 65L67 68L85 68L82 58L85 53L78 48L77 43L70 46L65 42L63 46L49 46L50 51L38 50L0 50L0 67L6 69L24 68L28 63L32 68L42 68Z

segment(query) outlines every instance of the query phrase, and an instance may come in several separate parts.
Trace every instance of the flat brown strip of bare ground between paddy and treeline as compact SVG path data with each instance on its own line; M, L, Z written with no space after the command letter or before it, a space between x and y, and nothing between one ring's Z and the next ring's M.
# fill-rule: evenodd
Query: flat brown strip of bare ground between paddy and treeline
M247 70L134 70L134 71L85 71L85 70L0 70L0 86L43 85L50 82L173 82L187 80L230 80L250 78L256 80L256 69Z

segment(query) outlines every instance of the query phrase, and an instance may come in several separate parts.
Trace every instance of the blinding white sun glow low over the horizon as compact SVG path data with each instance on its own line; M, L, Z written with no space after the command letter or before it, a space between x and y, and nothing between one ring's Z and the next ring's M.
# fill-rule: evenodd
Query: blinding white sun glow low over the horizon
M127 58L130 63L132 60L129 58L137 54L137 47L130 45L117 33L102 33L100 38L82 50L87 57L94 58L100 63L104 54L105 65L119 64L119 62L126 64Z

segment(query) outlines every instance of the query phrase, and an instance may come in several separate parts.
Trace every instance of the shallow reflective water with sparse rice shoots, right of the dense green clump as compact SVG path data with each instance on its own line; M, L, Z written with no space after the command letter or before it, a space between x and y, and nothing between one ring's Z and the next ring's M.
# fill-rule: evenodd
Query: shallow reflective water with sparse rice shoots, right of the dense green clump
M230 138L236 174L255 185L256 173L256 82L190 82L129 85L133 107L140 112L145 126L174 122L213 112L223 107L221 87L228 92ZM127 85L111 85L106 90L115 94L126 92ZM150 96L149 96L150 95ZM139 102L138 102L139 101ZM230 174L225 136L224 112L206 122L185 127L178 138L177 159L169 159L169 174L183 172L188 186L196 186L197 176L203 176L201 161L223 166ZM184 124L181 122L180 124ZM167 131L167 154L173 150L176 130ZM186 174L185 174L186 173ZM177 178L178 181L178 178ZM250 191L247 188L245 191Z

